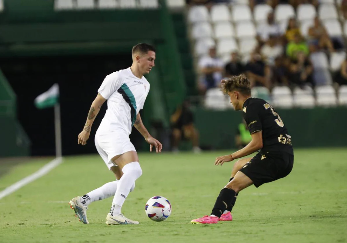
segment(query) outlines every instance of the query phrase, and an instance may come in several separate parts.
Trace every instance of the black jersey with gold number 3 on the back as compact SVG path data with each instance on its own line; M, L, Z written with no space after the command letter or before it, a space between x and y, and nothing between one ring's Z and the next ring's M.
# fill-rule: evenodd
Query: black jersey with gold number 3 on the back
M276 110L265 100L248 98L243 104L243 117L249 133L262 131L262 151L293 153L291 137Z

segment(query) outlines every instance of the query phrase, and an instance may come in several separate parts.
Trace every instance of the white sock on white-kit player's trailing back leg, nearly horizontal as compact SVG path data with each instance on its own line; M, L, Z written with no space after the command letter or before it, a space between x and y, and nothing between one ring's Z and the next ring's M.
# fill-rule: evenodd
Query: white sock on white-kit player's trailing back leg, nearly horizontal
M100 186L99 188L96 188L95 190L88 192L87 194L82 196L82 199L81 199L82 204L84 206L88 206L92 202L114 196L117 191L118 183L119 183L118 180L113 182L108 182L104 184L103 186ZM135 183L130 188L130 192L132 192L134 188L135 188Z

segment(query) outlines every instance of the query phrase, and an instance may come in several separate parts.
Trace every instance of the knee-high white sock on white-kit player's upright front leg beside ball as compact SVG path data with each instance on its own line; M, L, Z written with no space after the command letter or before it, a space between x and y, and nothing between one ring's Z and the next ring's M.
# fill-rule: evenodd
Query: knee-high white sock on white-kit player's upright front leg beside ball
M117 191L112 201L110 211L111 216L120 214L121 207L125 202L132 185L135 183L136 179L142 175L142 169L138 162L126 164L122 171L123 175L118 181Z

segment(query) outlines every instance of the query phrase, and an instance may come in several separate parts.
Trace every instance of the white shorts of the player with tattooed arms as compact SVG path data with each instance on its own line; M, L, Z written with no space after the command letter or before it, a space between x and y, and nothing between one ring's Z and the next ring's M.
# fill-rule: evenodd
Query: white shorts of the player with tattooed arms
M136 151L124 129L111 130L109 124L103 121L95 134L95 147L109 169L117 166L111 160L113 157L128 151Z

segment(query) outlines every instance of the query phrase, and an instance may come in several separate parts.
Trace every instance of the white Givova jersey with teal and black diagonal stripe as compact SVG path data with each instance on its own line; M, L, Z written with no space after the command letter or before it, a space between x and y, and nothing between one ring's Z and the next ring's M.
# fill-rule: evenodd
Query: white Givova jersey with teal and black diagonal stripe
M98 90L107 99L102 123L109 123L111 130L124 129L129 135L149 90L147 79L136 77L130 67L107 75Z

